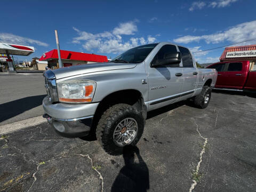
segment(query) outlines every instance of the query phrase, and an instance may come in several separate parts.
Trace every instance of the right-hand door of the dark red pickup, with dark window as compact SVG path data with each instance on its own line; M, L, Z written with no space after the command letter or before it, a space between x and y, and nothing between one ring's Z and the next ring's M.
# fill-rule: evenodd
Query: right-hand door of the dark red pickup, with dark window
M231 89L243 89L247 78L247 67L250 65L246 65L246 63L242 62L230 62L227 67L227 87Z

